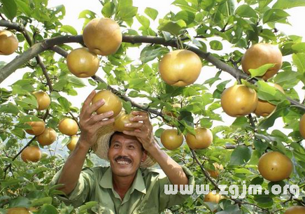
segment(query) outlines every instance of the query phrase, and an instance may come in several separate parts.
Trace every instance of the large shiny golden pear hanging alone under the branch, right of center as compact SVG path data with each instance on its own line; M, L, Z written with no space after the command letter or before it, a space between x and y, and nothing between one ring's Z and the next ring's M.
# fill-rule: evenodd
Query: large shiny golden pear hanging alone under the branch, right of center
M165 83L183 87L194 83L201 72L201 60L190 50L174 50L159 62L159 73Z

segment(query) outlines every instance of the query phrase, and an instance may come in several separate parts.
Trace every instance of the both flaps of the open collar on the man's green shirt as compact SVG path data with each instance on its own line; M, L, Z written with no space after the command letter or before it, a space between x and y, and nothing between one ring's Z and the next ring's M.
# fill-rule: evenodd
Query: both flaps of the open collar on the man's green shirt
M112 182L112 171L111 167L109 167L103 177L101 178L101 182L99 183L101 187L106 188L106 189L113 189L113 182ZM136 178L134 178L134 183L132 183L132 186L130 187L132 190L138 190L139 192L142 192L143 194L146 194L146 186L144 183L144 179L142 176L141 169L138 169L136 171Z

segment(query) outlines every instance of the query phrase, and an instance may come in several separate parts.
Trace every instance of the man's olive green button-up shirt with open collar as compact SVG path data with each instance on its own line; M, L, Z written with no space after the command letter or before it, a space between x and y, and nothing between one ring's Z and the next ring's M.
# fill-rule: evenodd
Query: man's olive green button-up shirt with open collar
M185 167L189 185L194 185L194 176ZM60 171L54 176L52 183L56 184ZM134 183L121 200L113 189L112 171L110 167L85 168L74 190L66 197L59 199L66 204L78 207L87 201L97 201L99 204L92 211L96 213L160 213L165 208L181 204L189 194L165 194L164 185L171 185L169 178L161 169L138 169Z

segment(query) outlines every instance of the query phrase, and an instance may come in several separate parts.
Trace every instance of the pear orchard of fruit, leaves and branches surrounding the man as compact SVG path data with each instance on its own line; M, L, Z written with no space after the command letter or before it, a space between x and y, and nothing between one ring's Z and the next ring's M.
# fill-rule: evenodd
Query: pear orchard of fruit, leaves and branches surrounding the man
M98 213L50 184L92 90L116 131L148 112L162 149L209 185L163 213L305 213L305 43L278 29L304 0L176 0L165 15L94 0L80 31L48 1L0 0L0 213ZM99 164L90 150L84 167Z

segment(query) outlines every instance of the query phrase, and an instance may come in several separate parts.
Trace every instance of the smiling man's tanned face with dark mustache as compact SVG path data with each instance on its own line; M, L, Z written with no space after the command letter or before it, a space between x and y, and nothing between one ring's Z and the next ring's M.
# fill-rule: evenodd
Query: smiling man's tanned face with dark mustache
M108 159L115 176L134 176L146 154L136 137L120 133L111 139Z

